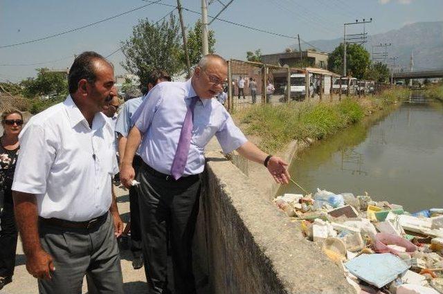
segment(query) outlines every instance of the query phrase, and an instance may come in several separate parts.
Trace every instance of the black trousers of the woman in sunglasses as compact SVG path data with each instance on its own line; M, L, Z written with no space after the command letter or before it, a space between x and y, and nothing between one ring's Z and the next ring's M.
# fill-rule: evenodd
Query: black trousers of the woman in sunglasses
M15 226L12 203L6 202L4 205L0 217L0 228L0 277L12 277L15 268L15 251L17 250L17 227Z

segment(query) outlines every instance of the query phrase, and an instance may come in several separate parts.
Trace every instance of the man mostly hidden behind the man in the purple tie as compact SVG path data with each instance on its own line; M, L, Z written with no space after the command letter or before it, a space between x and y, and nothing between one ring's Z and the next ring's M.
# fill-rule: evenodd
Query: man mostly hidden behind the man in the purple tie
M161 82L170 82L171 77L165 71L154 70L150 74L147 80L147 90L150 91L156 84ZM127 141L127 135L129 130L134 125L131 118L136 109L145 99L146 95L138 98L127 100L123 104L123 109L118 114L116 122L116 134L118 136L118 153L120 154L120 163L122 163L123 156L125 155L125 145ZM141 167L142 159L139 156L140 152L137 151L136 156L132 162L132 167L138 172ZM138 191L136 187L129 187L129 216L130 216L130 228L131 228L131 251L134 259L132 259L132 267L134 269L141 268L143 266L142 256L142 239L140 228L140 209L138 205Z

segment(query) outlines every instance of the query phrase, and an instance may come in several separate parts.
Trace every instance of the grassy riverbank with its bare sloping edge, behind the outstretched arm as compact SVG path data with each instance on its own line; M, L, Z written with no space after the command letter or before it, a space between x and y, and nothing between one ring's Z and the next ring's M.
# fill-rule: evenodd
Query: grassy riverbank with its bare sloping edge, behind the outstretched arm
M373 122L386 116L409 97L406 89L385 91L365 98L345 98L335 102L297 102L279 106L253 106L233 118L248 139L269 154L278 155L287 163L312 143L357 122ZM332 118L331 121L329 119ZM253 178L257 189L265 191L269 200L275 197L276 184L263 165L251 163L241 156L232 156L233 163Z

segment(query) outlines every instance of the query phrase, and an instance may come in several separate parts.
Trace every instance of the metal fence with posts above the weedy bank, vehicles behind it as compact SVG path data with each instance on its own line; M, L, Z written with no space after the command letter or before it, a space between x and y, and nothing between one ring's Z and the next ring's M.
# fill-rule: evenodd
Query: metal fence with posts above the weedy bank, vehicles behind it
M228 61L225 107L231 113L255 104L341 100L381 93L392 84L341 77L321 68L290 68L259 62Z

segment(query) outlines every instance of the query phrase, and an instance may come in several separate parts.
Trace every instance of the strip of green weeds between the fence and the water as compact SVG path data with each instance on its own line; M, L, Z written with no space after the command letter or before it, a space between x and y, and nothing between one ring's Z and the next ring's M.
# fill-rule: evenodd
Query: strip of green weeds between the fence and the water
M359 122L365 115L408 98L404 89L393 89L372 98L345 98L338 103L307 102L278 106L254 105L234 116L246 134L260 137L260 148L273 153L291 140L320 140Z

